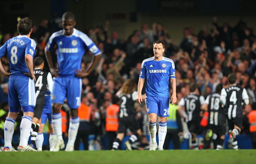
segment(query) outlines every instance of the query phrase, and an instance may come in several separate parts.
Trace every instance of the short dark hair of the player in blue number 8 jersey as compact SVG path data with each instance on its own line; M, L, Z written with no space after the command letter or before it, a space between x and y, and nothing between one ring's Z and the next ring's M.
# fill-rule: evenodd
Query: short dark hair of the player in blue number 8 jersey
M17 29L20 35L29 34L31 28L32 28L32 21L28 17L20 19L20 21L17 24Z

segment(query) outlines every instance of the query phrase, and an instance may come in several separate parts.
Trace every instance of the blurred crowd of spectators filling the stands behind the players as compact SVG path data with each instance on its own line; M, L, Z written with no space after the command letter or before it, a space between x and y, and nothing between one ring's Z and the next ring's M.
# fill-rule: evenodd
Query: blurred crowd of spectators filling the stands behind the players
M108 27L109 22L106 22L105 25L84 31L97 44L102 52L102 58L97 68L82 80L81 103L84 108L89 109L86 113L88 122L80 123L76 143L78 138L87 138L84 140L85 149L108 149L108 145L112 146L112 143L108 143L108 139L104 138L104 136L111 137L105 127L107 108L112 105L116 92L126 79L134 79L136 83L138 82L142 61L154 55L152 43L155 40L165 42L164 55L175 62L176 104L189 94L190 83L195 82L199 86L200 94L206 98L210 93L215 92L218 84L222 84L223 87L229 86L227 76L234 72L239 81L238 85L246 88L250 98L250 104L243 110L241 132L241 134L250 134L247 115L252 109L256 109L256 37L253 29L248 27L246 22L241 20L232 27L228 22L221 25L221 22L217 22L217 18L214 17L211 27L205 25L198 34L194 32L193 27L185 27L184 38L180 44L172 40L172 33L168 32L161 23L153 23L151 26L142 24L140 29L134 30L127 40L119 38L122 34L115 31L110 35ZM46 61L44 47L49 36L60 29L62 27L59 19L42 20L39 25L33 25L31 38L37 42L35 57L41 56ZM0 46L17 35L16 31L12 34L0 33ZM88 67L92 57L89 51L84 55L81 65L83 70ZM2 57L1 61L5 70L9 70L7 56ZM56 59L54 63L56 64ZM44 70L49 71L47 62ZM8 79L1 72L0 86L0 138L3 138L3 124L8 112ZM135 108L140 128L144 135L148 135L145 103L141 105L137 103ZM66 113L63 114L66 117L66 126L62 126L62 132L63 136L67 137L69 109L67 105L63 105L62 109ZM16 120L14 134L19 134L17 127L21 116ZM87 144L88 135L91 134L95 136L90 144L94 148L90 146L88 148ZM1 146L4 144L3 140L0 140L0 144ZM145 138L143 137L141 143L135 144L134 147L147 148ZM75 149L79 149L77 144Z

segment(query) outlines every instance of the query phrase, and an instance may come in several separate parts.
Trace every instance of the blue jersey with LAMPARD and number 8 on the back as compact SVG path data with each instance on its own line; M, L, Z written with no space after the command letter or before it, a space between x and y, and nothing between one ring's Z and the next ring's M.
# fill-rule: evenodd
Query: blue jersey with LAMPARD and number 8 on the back
M34 58L36 42L26 35L19 35L9 39L0 48L0 58L8 54L11 74L24 75L29 73L25 61L25 55L31 55Z

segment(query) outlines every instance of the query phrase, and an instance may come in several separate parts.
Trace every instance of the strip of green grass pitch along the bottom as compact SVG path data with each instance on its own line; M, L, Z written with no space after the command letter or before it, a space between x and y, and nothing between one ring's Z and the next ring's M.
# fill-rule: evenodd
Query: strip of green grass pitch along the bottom
M256 150L0 152L0 162L5 164L256 164Z

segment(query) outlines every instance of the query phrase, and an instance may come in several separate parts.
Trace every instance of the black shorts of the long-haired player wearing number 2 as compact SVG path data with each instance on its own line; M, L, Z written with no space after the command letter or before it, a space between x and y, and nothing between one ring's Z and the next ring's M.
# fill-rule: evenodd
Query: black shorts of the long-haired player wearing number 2
M140 128L134 115L119 118L118 123L117 133L125 133L127 128L129 128L131 132L135 133Z

